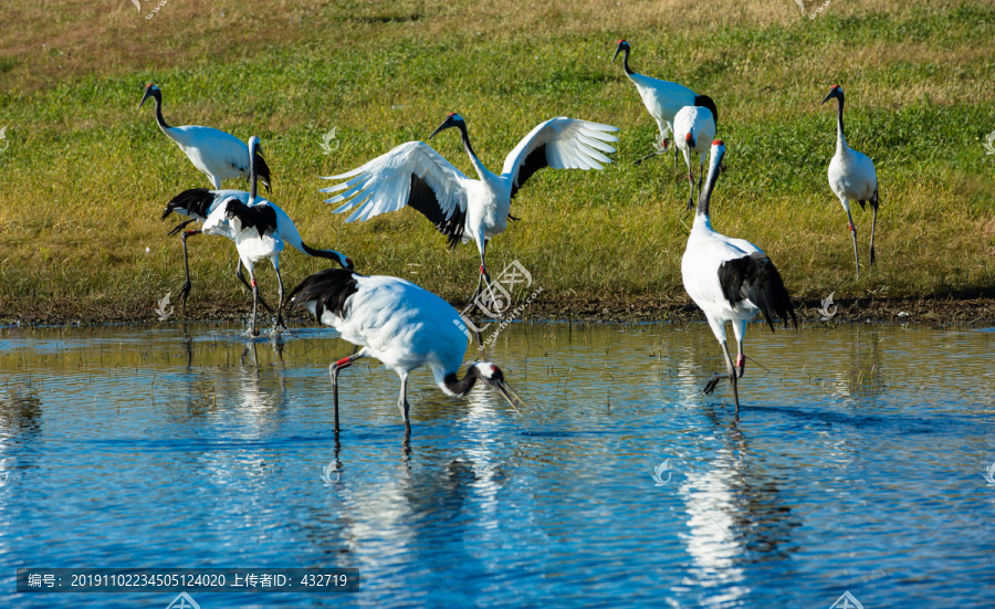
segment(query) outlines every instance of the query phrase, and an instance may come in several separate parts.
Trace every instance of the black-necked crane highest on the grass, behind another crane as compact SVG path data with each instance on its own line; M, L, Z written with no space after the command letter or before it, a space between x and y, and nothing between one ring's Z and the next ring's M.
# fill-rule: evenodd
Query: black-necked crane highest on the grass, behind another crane
M618 45L615 49L615 55L611 57L611 63L615 63L619 53L622 53L622 67L626 71L626 75L632 81L632 84L636 85L639 96L642 97L642 104L646 106L646 109L649 111L650 116L653 117L653 120L657 122L657 126L660 128L659 148L637 160L637 165L650 157L667 153L667 134L673 134L674 116L684 106L701 106L709 108L712 112L712 119L718 125L719 109L715 108L715 102L713 102L711 97L708 95L699 95L684 85L671 83L670 81L651 78L632 72L629 67L630 51L631 48L629 46L629 43L625 39L619 40ZM711 137L705 139L705 143L710 140ZM673 166L677 167L677 149L673 151Z

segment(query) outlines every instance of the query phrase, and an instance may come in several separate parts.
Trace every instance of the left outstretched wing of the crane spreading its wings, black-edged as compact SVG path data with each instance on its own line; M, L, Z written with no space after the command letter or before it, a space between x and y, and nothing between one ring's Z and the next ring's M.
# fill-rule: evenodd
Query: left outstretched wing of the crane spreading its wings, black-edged
M369 220L405 206L425 214L454 243L462 239L469 178L423 141L408 141L358 169L326 180L346 180L320 192L338 192L326 203L355 209L346 222Z

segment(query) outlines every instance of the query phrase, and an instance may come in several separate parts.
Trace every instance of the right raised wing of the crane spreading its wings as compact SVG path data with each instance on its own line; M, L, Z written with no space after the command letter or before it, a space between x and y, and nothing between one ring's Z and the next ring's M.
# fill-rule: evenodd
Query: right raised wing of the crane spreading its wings
M553 169L603 169L611 162L605 153L618 141L610 135L618 127L558 116L541 123L522 138L504 159L502 177L511 180L512 197L533 174L544 167Z

